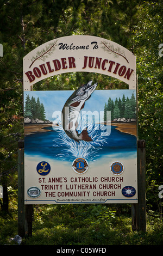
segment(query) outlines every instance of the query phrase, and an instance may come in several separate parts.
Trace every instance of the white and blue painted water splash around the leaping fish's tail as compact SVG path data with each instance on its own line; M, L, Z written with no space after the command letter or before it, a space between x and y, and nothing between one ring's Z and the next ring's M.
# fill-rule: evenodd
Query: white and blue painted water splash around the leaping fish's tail
M76 142L66 135L61 121L58 119L58 126L53 126L53 129L58 131L58 138L53 140L53 147L63 149L61 149L62 152L60 154L55 155L57 159L72 161L74 158L83 157L90 162L97 160L98 151L102 150L104 144L107 144L106 136L110 135L110 133L104 132L104 125L95 124L94 121L88 124L86 115L81 115L78 119L78 133L80 134L86 127L92 141Z

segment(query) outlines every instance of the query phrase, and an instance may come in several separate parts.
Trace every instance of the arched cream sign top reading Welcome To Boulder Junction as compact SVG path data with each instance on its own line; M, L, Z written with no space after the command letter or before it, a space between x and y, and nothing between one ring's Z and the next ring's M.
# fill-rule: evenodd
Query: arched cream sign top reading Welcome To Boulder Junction
M90 35L56 38L23 58L24 91L45 78L67 72L95 72L115 77L136 89L136 58L110 40Z

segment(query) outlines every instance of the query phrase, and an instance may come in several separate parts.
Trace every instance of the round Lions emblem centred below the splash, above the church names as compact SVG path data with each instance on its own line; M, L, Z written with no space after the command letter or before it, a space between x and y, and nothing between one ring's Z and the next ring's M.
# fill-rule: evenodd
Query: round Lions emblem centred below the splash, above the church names
M73 161L72 168L74 172L83 174L87 171L87 169L89 168L89 165L83 157L78 157Z

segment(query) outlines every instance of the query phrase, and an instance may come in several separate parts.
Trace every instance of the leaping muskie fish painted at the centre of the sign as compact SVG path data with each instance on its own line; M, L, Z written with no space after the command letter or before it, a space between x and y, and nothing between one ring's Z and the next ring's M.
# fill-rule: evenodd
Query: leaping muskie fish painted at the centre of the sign
M62 125L63 128L70 138L79 142L83 141L92 141L87 130L83 130L78 134L77 128L77 119L80 113L80 110L84 108L85 101L88 100L96 89L97 83L92 85L92 81L89 81L87 84L80 86L66 101L62 109Z

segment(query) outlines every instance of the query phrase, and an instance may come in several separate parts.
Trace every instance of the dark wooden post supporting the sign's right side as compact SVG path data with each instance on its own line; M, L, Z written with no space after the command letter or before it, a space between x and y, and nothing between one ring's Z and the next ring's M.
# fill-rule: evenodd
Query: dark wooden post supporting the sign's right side
M138 203L131 205L133 231L146 231L146 149L145 141L137 141Z

